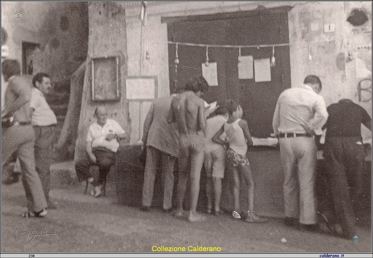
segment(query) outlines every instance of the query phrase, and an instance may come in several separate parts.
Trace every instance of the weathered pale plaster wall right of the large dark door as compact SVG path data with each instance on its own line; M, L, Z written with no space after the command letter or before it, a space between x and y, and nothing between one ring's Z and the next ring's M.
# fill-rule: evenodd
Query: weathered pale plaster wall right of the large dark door
M355 7L367 10L369 16L369 21L358 27L346 21ZM357 90L361 79L372 79L371 9L371 2L322 1L295 5L289 12L292 87L302 84L307 75L315 74L323 83L321 94L327 106L348 98L372 116L371 98L359 101ZM334 31L325 31L325 24L334 24ZM344 58L337 61L338 55ZM364 141L371 142L370 131L364 127L362 133Z

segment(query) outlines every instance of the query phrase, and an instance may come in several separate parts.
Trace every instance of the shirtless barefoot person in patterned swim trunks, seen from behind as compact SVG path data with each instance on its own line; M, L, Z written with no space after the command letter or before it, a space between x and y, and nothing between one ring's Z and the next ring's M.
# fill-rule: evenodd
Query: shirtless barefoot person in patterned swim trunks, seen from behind
M175 122L179 131L179 181L178 211L176 217L183 215L183 202L186 183L191 178L191 206L189 221L204 221L206 217L197 214L198 195L200 192L201 169L205 146L205 103L201 96L209 84L203 77L196 77L186 83L185 92L174 97L168 115L168 122Z

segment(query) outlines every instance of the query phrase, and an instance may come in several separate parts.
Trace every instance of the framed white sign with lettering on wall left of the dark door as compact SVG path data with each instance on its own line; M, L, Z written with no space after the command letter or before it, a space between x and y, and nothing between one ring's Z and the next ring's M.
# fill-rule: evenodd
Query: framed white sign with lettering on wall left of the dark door
M153 78L127 78L127 99L155 99L155 83Z

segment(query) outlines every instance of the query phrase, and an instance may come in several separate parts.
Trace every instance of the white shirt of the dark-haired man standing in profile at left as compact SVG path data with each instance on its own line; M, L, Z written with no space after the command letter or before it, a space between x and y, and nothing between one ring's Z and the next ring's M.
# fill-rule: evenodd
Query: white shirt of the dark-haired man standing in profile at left
M31 124L47 126L57 124L56 115L50 109L44 94L35 87L31 89L30 108L34 109L31 117Z

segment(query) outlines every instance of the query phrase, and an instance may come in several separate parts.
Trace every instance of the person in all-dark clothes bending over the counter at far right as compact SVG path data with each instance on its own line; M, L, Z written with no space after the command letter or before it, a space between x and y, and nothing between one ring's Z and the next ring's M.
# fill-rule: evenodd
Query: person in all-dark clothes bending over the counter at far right
M372 131L372 118L350 99L333 103L327 111L329 117L323 127L326 128L323 156L331 167L327 172L333 194L334 221L341 225L342 237L353 239L356 233L353 204L362 202L366 156L361 124Z

